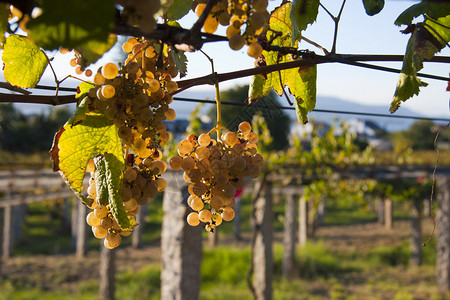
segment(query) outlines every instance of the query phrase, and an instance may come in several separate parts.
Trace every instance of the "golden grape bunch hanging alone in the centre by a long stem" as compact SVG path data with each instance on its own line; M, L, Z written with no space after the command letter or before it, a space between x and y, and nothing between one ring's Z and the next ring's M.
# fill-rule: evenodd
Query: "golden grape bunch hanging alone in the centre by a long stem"
M233 220L236 190L244 187L244 177L259 176L264 158L257 153L258 136L248 122L217 140L210 133L191 134L180 141L178 155L169 164L174 170L183 169L184 180L189 183L187 202L194 212L187 216L188 224L202 222L213 232L222 221Z

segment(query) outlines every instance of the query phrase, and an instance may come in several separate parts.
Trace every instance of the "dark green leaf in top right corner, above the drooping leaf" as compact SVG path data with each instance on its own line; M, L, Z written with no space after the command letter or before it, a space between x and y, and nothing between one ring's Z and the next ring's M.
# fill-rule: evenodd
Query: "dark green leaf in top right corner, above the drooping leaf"
M420 15L427 15L433 19L439 19L450 15L450 3L439 1L421 1L403 11L395 20L397 26L411 25L414 18Z

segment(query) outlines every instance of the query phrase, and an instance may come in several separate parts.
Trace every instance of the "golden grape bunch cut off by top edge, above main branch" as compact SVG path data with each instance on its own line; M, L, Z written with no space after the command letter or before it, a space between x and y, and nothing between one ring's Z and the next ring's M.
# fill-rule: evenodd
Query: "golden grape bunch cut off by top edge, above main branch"
M239 50L248 45L247 54L258 58L262 54L257 36L263 32L269 20L268 0L219 0L203 25L207 33L214 33L219 24L227 26L227 38L231 49ZM198 3L195 13L200 16L205 3Z

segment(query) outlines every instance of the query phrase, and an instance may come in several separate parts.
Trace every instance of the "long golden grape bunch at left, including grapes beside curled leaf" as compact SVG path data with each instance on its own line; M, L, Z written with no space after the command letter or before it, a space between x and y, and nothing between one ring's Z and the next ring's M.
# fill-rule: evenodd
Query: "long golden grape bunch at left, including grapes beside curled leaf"
M178 70L170 54L154 41L130 38L123 44L129 53L123 65L107 63L94 75L94 87L89 89L91 110L112 120L124 148L126 169L123 172L120 198L127 217L136 219L139 206L163 191L167 183L161 178L167 164L162 160L161 146L169 139L163 123L176 114L169 104L171 93L178 89L172 80ZM101 205L96 193L92 166L88 197L95 199L94 209L87 217L94 236L105 238L105 247L115 248L121 236L131 231L120 228L109 205Z

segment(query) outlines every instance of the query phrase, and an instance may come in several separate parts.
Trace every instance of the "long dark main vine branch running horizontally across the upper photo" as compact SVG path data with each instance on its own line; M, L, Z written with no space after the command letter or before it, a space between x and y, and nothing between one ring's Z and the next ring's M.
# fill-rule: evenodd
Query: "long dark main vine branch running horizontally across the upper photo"
M304 54L305 53L302 53L302 55L304 55ZM205 84L211 85L211 84L214 84L215 80L217 82L223 82L223 81L227 81L227 80L252 76L252 75L256 75L256 74L267 74L270 72L276 72L278 70L286 70L286 69L291 69L291 68L312 66L312 65L316 65L316 64L331 63L331 62L338 62L338 63L349 64L349 65L354 65L354 66L358 66L358 67L364 67L364 68L375 69L375 70L386 71L386 72L400 73L400 70L398 70L398 69L361 63L362 61L365 61L365 62L367 62L367 61L378 61L378 62L403 61L403 55L330 54L330 55L326 55L326 56L321 56L321 55L317 55L314 53L308 53L308 55L306 55L302 60L296 60L296 61L276 64L276 65L270 65L270 66L261 66L261 67L257 67L257 68L244 69L244 70L228 72L228 73L220 73L220 74L216 73L216 74L214 74L214 78L212 78L211 75L206 75L206 76L201 76L201 77L197 77L197 78L181 80L181 81L178 81L178 87L179 87L179 91L181 91L181 90L185 90L190 87L193 87L193 86L205 85ZM427 61L439 62L439 63L450 63L450 57L436 56ZM448 81L447 77L430 75L430 74L417 73L417 76L424 77L424 78L436 79L436 80ZM2 87L2 86L0 86L0 87ZM55 90L54 87L43 86L43 85L38 85L35 88L36 89L44 89L44 90ZM74 89L67 88L67 87L59 87L59 91L73 92ZM36 104L53 105L55 102L55 96L18 95L18 94L0 93L0 102L36 103ZM75 99L74 95L58 96L59 104L68 104L68 103L75 103L75 102L76 102L76 99Z

